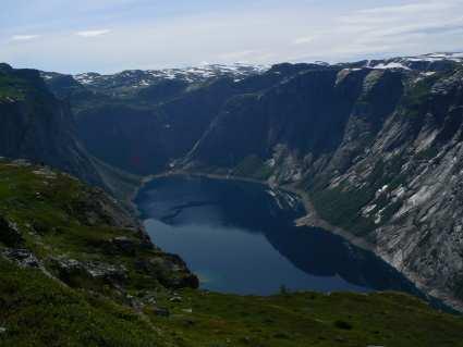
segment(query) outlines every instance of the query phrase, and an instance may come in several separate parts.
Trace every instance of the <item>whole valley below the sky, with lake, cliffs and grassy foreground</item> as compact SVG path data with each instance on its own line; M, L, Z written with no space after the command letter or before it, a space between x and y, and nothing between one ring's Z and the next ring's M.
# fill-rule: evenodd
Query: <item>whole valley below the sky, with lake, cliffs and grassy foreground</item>
M1 64L0 344L460 346L462 76Z

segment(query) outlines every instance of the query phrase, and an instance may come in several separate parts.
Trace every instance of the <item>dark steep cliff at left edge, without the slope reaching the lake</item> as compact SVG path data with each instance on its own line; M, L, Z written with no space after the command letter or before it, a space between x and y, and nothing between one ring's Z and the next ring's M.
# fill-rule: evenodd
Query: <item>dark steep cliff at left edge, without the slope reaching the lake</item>
M102 184L75 136L69 104L34 70L0 69L0 156L44 162L92 184Z

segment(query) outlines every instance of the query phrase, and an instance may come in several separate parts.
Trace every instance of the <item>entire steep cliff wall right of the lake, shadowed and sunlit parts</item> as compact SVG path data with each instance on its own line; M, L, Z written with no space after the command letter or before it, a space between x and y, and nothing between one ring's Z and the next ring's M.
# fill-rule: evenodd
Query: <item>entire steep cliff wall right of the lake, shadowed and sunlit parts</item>
M296 184L325 220L460 306L463 72L439 67L300 73L229 101L184 164Z

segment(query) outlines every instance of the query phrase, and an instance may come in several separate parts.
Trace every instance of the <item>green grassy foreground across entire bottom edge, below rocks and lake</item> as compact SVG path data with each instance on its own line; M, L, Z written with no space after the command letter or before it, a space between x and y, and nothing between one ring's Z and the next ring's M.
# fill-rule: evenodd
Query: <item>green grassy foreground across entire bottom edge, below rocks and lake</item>
M463 320L401 294L158 294L144 313L0 261L1 346L463 346ZM27 329L25 329L27 327Z

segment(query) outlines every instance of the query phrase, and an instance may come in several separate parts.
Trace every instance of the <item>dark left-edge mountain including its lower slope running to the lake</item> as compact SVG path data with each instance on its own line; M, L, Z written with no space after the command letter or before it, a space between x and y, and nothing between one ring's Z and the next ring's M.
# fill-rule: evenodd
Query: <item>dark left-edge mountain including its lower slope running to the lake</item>
M36 70L0 64L0 157L21 159L60 169L121 200L139 184L139 177L112 168L90 156L82 145L65 96L85 89L65 75L54 74L62 89L57 96ZM126 203L126 208L131 206Z

